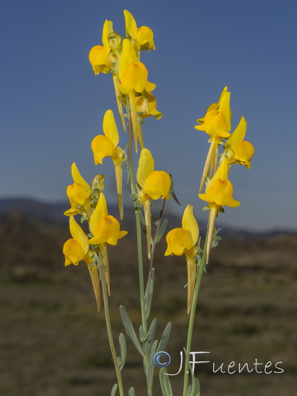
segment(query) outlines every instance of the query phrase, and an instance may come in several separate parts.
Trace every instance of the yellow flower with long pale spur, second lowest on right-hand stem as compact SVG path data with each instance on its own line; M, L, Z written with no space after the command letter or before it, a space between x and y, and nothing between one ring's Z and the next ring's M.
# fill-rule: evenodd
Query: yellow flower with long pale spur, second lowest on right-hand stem
M233 199L233 186L228 180L227 158L224 157L213 178L207 184L205 194L198 197L209 203L208 238L206 245L206 264L208 264L209 252L212 244L215 218L222 206L237 207L240 202Z

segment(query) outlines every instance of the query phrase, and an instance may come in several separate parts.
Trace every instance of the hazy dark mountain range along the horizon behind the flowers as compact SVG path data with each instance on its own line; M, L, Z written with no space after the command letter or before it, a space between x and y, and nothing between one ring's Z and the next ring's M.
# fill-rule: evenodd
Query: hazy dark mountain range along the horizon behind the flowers
M0 199L0 220L7 221L13 214L21 214L27 222L38 220L45 225L60 223L61 225L67 225L69 218L63 213L69 209L69 203L67 202L56 202L46 203L37 201L30 198L1 198ZM109 214L114 215L118 218L118 207L117 205L108 205ZM134 222L130 221L134 217L132 208L124 208L124 219L121 222L121 228L129 232L134 231ZM181 220L179 217L172 213L167 213L166 218L168 219L167 230L175 227L180 227ZM200 230L206 230L206 223L199 222ZM219 232L224 238L230 239L255 239L262 237L270 237L279 234L296 235L297 231L288 230L273 230L269 232L249 232L246 230L231 228L218 223L217 228L222 228Z

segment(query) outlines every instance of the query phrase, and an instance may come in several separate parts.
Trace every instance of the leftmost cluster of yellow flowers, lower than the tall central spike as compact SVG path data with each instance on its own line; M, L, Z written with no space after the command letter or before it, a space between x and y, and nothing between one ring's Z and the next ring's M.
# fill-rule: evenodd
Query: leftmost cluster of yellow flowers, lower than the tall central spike
M100 287L96 247L99 247L102 255L104 279L108 294L110 295L106 243L116 245L118 239L126 235L127 231L120 231L119 222L113 216L107 214L106 200L102 193L104 189L104 177L97 175L91 186L82 178L75 163L72 164L71 171L74 183L67 187L67 196L70 200L71 208L64 212L64 214L69 216L69 228L72 238L66 241L63 246L65 266L71 263L78 265L80 261L85 261L90 272L99 311ZM95 206L94 201L96 201ZM75 221L73 216L76 214L83 215L81 221L88 220L91 232L89 236L91 239L88 238L83 229Z

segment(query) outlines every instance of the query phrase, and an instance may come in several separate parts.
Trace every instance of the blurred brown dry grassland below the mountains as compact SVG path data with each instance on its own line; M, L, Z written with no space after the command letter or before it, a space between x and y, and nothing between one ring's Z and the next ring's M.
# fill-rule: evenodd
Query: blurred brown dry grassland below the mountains
M61 225L27 224L19 215L0 228L1 359L0 395L110 395L115 375L103 311L96 312L84 263L64 268L61 246L69 238ZM110 310L114 338L124 333L118 306L126 306L140 325L138 270L134 239L110 247ZM173 322L167 351L168 372L176 372L187 336L184 257L156 252L156 279L151 318L156 337ZM293 396L296 394L297 237L225 240L212 252L203 275L192 350L207 350L209 360L283 362L282 374L213 374L210 363L197 366L201 395ZM147 266L146 262L146 266ZM128 344L123 370L126 394L131 386L145 395L142 361ZM172 377L181 395L182 375ZM154 396L160 396L158 369Z

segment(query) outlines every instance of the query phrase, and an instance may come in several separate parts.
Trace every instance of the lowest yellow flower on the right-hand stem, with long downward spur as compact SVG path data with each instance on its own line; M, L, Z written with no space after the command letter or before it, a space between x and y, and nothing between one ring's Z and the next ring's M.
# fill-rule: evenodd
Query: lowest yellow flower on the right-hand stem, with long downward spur
M199 237L198 223L193 215L193 206L187 205L183 220L182 228L174 228L169 231L166 236L167 249L165 256L170 254L181 256L186 254L187 267L188 267L188 314L191 311L191 305L194 294L195 279L196 279L196 263L195 253L198 247L196 246Z

